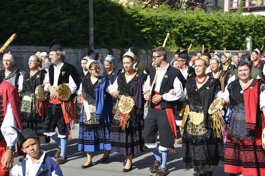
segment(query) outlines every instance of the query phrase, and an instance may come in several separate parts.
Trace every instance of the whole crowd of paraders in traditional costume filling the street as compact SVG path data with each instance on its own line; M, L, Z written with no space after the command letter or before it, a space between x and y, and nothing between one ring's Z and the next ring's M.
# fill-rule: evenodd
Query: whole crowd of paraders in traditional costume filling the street
M149 70L130 42L123 68L113 67L112 55L104 59L90 49L77 71L64 61L65 51L54 40L49 53L29 57L30 71L24 74L12 66L12 51L3 54L0 175L9 170L14 176L62 175L59 165L67 162L74 123L79 123L77 150L87 153L82 169L93 166L93 152L104 150L102 162L110 151L121 152L121 170L129 172L134 155L147 147L154 155L150 172L165 176L177 142L183 168L193 168L199 176L215 175L216 165L231 176L265 175L263 51L239 57L205 49L192 58L188 52L176 51L167 63L165 47L156 47ZM209 107L215 100L223 104L214 116ZM50 138L57 143L56 161L40 150ZM15 151L22 166L13 166Z

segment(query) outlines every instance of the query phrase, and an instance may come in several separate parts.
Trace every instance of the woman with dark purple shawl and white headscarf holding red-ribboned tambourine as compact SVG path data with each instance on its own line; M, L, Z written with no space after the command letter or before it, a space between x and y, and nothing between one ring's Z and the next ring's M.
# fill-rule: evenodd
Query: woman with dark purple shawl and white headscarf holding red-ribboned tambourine
M143 84L146 81L147 74L140 71L135 71L133 64L135 64L136 57L132 52L126 52L122 57L122 64L125 72L118 75L113 83L115 90L118 90L119 96L116 97L120 101L126 101L126 97L134 100L134 109L129 113L128 124L122 124L123 115L119 112L117 106L115 115L112 120L110 142L112 152L122 152L125 155L123 165L125 166L123 172L132 170L132 157L136 153L143 152Z

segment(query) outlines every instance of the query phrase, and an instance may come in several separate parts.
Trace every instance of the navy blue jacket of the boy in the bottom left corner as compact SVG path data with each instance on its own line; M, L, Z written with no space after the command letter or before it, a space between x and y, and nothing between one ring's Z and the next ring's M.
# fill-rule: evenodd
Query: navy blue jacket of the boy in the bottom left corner
M26 159L22 161L23 176L25 176L25 170L26 170ZM58 163L45 154L44 160L40 165L36 176L52 176L53 170L55 170L55 174L57 174L58 176L63 176Z

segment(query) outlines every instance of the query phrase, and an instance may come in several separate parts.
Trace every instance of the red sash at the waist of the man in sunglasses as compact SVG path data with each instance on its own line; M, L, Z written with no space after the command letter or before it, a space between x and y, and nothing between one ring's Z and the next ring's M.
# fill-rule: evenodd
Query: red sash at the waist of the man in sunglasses
M155 92L155 95L159 95L159 92ZM168 108L161 108L160 107L160 103L152 103L151 107L155 108L155 109L165 109L167 116L168 116L168 122L170 125L170 128L173 132L174 135L174 143L175 143L175 139L177 139L177 128L176 128L176 122L175 122L175 109L174 107L168 107Z

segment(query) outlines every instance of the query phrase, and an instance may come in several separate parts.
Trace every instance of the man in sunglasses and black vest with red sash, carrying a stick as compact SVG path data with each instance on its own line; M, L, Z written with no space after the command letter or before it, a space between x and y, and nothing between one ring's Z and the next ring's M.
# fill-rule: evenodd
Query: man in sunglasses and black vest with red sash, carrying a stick
M143 137L145 146L150 148L156 160L150 168L151 173L156 173L158 176L168 175L169 171L166 167L169 151L173 150L173 144L177 137L174 106L183 95L183 87L185 86L185 78L180 71L166 61L167 50L164 47L152 49L155 66L157 66L157 78L155 79L156 69L150 70L145 86L143 88L145 100L150 101L148 114L145 119L145 127L143 129ZM151 95L151 83L155 81L155 86ZM168 93L172 88L176 88L175 95ZM157 147L156 132L159 132L160 146ZM162 152L162 157L158 149ZM161 165L161 169L159 167Z

